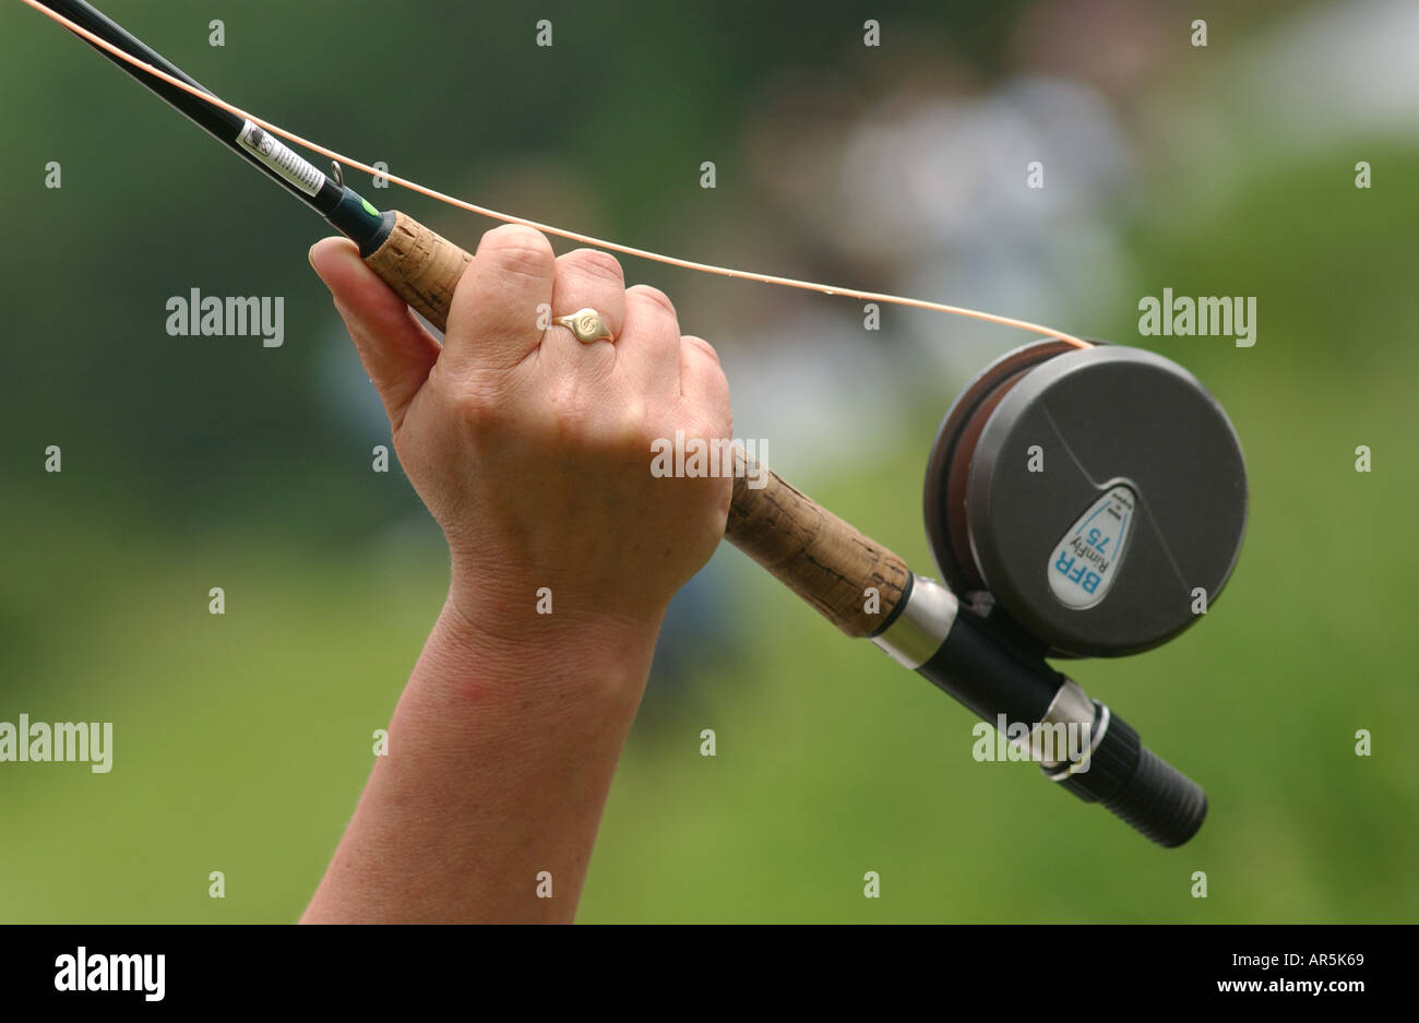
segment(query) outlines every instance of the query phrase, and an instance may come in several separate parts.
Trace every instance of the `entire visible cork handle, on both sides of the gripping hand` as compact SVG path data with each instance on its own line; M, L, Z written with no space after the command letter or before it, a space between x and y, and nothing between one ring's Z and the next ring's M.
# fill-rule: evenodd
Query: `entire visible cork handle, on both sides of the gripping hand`
M441 331L471 260L413 217L394 213L389 237L365 262ZM744 448L734 451L725 539L849 636L876 633L901 600L911 575L907 563L748 458Z

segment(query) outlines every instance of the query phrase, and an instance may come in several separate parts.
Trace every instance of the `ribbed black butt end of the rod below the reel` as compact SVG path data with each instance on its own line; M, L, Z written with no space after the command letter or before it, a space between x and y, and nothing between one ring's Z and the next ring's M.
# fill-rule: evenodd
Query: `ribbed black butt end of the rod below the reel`
M1103 714L1095 728L1101 724ZM1138 732L1114 715L1088 759L1088 770L1061 778L1059 783L1086 803L1103 803L1168 848L1195 836L1208 816L1208 796L1200 786L1148 751Z

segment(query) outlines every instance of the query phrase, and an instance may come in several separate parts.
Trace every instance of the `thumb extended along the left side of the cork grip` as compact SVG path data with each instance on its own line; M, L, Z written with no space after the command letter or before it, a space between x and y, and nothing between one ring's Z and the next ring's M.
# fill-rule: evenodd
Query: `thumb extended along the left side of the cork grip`
M359 360L375 382L390 426L397 430L438 359L438 342L414 319L404 299L365 265L349 238L316 241L311 247L311 265L331 289Z

